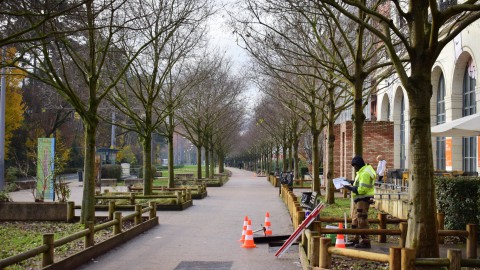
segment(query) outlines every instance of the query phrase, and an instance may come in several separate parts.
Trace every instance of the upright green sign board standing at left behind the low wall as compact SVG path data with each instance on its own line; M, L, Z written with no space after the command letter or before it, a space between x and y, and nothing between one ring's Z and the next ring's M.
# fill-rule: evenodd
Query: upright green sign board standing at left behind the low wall
M55 165L55 139L38 138L37 153L37 199L55 199L53 189Z

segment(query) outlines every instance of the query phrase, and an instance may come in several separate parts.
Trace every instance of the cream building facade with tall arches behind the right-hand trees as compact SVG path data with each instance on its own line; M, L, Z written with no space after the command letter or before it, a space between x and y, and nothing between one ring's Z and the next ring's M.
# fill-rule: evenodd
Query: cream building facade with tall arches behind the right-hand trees
M480 22L475 22L450 42L432 70L433 95L430 102L431 125L435 126L476 114L480 87L476 84L479 60ZM391 78L377 93L377 120L394 126L395 168L408 169L409 112L408 96L398 80ZM480 137L432 137L436 170L461 170L475 174L480 169Z

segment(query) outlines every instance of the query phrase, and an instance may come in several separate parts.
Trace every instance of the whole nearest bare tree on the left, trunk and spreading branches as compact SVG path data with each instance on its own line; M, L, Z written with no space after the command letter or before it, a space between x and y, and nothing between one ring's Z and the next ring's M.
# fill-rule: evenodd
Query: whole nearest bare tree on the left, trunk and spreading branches
M56 89L83 121L85 182L82 223L95 218L94 168L96 133L100 121L98 109L135 57L152 42L136 39L137 31L151 27L140 20L150 16L150 12L138 9L138 6L136 1L86 1L68 16L48 20L46 30L35 29L37 36L44 36L45 31L55 31L58 34L54 37L25 44L28 53L24 57L25 70ZM142 11L148 13L142 14ZM119 50L122 42L134 43L134 40L137 46L132 46L132 51ZM129 57L123 57L125 53ZM34 61L31 59L36 60L37 66L32 66ZM59 62L61 67L57 68L54 62Z

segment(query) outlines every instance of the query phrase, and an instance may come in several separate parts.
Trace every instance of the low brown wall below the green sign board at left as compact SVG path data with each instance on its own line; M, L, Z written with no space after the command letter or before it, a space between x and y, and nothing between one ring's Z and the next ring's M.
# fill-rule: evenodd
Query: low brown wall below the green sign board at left
M1 221L67 220L67 203L4 202L0 203Z

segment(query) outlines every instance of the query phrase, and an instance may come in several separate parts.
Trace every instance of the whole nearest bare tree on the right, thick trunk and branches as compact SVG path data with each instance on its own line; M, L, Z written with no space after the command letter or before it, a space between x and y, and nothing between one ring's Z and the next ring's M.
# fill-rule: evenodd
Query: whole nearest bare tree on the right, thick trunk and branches
M480 18L477 0L440 9L437 1L312 1L326 3L382 42L409 99L411 174L406 246L417 257L438 257L430 123L432 67L442 49ZM385 12L386 10L390 12ZM369 17L365 21L363 16ZM398 20L395 20L398 18ZM399 54L399 49L405 54ZM402 57L408 59L405 65Z

